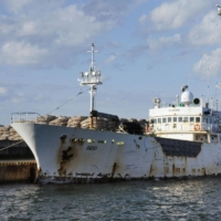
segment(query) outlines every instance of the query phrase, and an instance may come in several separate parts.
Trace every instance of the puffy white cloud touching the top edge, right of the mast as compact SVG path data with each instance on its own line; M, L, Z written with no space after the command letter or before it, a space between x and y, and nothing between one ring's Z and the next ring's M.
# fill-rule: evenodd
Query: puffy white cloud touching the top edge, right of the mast
M177 29L210 6L209 1L179 0L165 2L152 10L150 20L156 30Z

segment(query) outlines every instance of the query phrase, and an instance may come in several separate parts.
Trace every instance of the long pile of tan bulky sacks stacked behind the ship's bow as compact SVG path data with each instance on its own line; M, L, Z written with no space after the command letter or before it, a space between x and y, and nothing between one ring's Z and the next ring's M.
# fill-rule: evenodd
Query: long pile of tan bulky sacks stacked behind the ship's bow
M106 117L107 116L107 117ZM93 117L93 128L98 130L110 130L110 131L127 131L129 134L143 134L146 131L146 119L135 119L135 118L118 118L117 116L108 117L109 115L103 114L103 116ZM112 115L110 115L112 116ZM22 119L25 122L24 119ZM21 120L20 120L21 122ZM75 128L92 128L91 117L87 116L53 116L53 115L43 115L38 117L33 123L36 124L50 124L54 126L67 126ZM119 125L120 128L119 129ZM17 131L11 127L0 127L0 140L20 140L22 139Z

